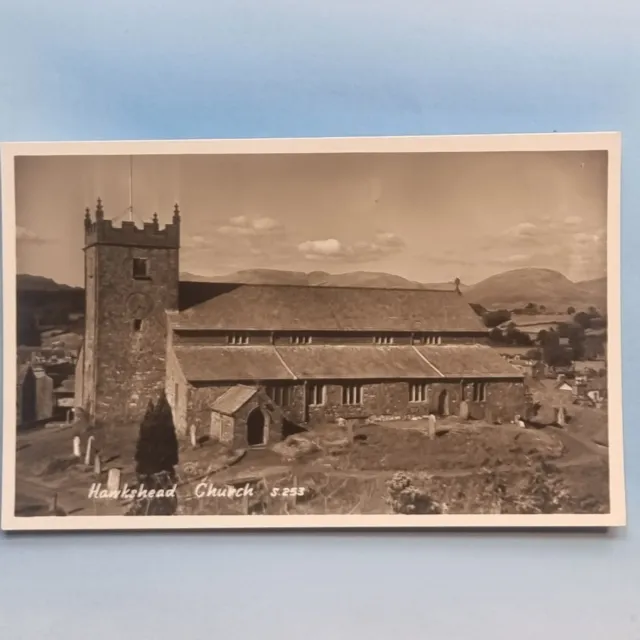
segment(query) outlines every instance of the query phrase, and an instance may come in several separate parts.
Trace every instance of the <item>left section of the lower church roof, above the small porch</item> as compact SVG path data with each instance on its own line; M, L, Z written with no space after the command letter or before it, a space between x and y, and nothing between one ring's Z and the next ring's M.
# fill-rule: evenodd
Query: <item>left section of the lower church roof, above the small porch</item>
M274 347L174 347L189 382L293 380Z

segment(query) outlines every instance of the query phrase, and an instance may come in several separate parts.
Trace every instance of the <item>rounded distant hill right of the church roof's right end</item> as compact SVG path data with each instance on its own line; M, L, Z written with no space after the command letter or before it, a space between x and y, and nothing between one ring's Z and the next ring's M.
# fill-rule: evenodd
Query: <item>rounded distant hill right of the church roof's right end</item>
M569 306L604 309L606 278L576 283L552 269L514 269L472 285L465 297L493 309L524 307L529 302L545 305L550 311L564 311Z

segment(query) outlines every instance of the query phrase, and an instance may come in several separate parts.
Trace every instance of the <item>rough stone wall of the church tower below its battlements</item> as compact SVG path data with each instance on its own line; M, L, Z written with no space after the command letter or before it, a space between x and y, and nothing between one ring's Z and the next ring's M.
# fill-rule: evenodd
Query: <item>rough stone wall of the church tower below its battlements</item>
M93 277L87 274L85 406L95 422L138 422L165 387L165 311L178 304L178 250L96 245L86 252ZM148 278L133 277L134 258L148 260Z

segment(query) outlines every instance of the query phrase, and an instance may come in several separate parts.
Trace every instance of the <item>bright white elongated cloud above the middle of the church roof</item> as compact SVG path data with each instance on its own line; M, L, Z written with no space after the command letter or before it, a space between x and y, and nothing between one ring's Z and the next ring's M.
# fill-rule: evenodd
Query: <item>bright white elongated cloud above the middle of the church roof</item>
M307 240L298 245L298 251L307 260L333 259L345 262L372 262L402 251L405 242L394 233L378 233L373 240L351 244L336 238Z

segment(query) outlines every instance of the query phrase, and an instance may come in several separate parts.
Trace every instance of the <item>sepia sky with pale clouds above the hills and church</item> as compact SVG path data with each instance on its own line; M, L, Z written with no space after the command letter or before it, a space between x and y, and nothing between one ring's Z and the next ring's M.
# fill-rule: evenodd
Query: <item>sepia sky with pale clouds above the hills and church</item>
M16 163L18 271L84 281L83 218L174 203L181 269L366 270L473 284L521 267L605 275L606 152L41 156Z

